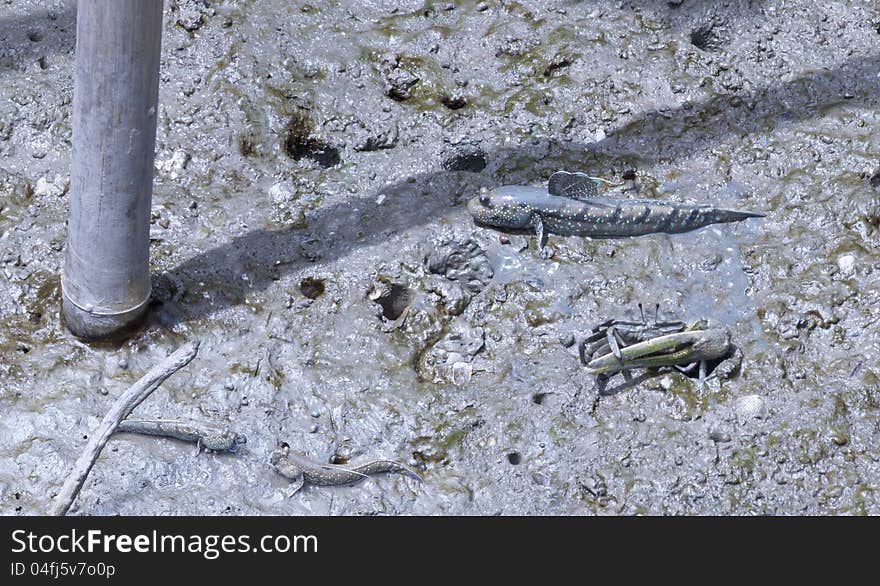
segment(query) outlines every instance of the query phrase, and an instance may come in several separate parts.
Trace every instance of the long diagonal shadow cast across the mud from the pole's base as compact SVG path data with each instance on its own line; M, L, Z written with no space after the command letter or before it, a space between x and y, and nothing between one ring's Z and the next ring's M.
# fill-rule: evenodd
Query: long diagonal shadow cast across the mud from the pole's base
M878 71L880 57L851 59L836 70L648 112L601 142L539 139L489 152L489 164L480 172L422 174L370 197L320 209L308 218L304 229L254 230L156 275L154 282L166 295L158 297L161 303L155 305L161 307L154 307L158 310L154 317L173 325L241 304L248 294L266 289L288 272L333 261L360 246L428 223L460 206L480 187L536 183L558 169L613 177L689 156L728 135L771 132L822 115L838 104L870 103L880 95ZM385 195L381 204L377 203L379 193Z

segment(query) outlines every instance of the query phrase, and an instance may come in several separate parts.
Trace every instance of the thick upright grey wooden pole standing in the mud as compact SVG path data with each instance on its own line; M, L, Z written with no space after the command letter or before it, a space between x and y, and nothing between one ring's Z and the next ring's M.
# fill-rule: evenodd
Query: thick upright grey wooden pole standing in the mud
M64 323L85 339L136 325L150 296L162 0L79 0Z

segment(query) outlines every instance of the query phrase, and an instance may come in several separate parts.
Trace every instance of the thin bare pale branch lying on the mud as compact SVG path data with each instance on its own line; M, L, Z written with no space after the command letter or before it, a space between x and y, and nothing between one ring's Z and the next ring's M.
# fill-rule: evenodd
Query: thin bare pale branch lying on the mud
M95 465L95 461L101 454L101 450L104 449L107 440L119 426L119 422L128 417L128 414L141 401L149 397L150 393L165 382L165 379L189 364L196 357L198 351L198 341L184 344L161 363L153 367L113 403L110 411L101 420L98 429L95 430L89 443L83 449L82 455L74 464L73 471L67 477L64 486L61 487L61 492L55 497L55 502L49 508L50 515L61 517L67 514L67 511L76 499L76 495L79 494L83 483L85 483L92 466Z

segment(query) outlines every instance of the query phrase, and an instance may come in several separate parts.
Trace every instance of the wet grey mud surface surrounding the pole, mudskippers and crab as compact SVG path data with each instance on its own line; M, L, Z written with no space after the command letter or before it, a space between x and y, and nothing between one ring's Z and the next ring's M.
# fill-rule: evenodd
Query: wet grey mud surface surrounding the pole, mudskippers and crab
M155 300L105 346L59 321L72 4L0 4L0 512L199 338L135 414L247 445L119 436L75 513L880 514L875 3L170 0ZM558 169L767 217L548 260L471 221ZM741 366L597 400L574 342L639 301ZM287 498L279 440L425 483Z

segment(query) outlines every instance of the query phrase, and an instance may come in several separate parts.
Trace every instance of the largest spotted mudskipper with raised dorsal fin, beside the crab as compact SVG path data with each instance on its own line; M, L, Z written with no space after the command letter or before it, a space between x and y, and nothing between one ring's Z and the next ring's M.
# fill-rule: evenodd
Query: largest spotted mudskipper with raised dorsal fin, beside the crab
M558 171L547 189L504 185L468 202L477 224L511 231L529 231L543 249L548 233L590 238L626 238L645 234L678 234L709 224L763 218L759 212L711 205L598 197L604 180L583 173Z

